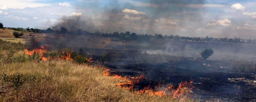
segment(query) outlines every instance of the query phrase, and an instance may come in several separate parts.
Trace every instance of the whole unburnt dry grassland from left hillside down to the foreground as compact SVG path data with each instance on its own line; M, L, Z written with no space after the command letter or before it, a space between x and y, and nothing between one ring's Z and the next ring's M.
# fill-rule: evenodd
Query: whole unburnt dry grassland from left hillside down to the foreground
M72 60L28 60L21 43L28 34L14 38L11 30L5 30L0 31L4 38L0 39L1 102L195 101L187 97L139 95L135 90L119 88L117 84L124 80L103 76L106 68L101 65L77 64Z

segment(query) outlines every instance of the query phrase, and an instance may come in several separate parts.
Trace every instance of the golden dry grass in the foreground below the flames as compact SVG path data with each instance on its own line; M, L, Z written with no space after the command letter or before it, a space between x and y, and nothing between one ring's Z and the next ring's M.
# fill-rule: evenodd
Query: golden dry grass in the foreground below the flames
M1 88L1 101L180 101L118 88L116 84L122 80L103 76L105 68L99 65L85 67L61 60L9 63L0 68L9 76L21 72L27 78L18 97L10 86ZM35 81L29 81L33 78Z

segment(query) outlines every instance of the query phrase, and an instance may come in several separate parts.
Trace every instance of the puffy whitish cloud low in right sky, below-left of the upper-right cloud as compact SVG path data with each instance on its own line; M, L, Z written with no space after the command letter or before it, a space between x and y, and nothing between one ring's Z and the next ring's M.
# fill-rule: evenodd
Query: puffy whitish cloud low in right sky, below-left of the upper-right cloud
M208 23L207 26L229 26L231 25L231 21L229 19L219 19L219 20L213 20L212 23Z

